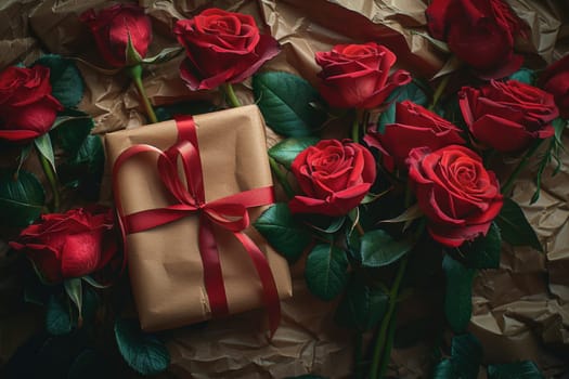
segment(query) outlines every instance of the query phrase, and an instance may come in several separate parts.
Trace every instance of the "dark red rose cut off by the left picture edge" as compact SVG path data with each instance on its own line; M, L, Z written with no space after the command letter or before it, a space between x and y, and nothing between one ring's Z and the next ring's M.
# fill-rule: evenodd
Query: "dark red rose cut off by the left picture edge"
M9 67L0 74L0 139L28 141L50 131L63 106L51 94L50 69Z

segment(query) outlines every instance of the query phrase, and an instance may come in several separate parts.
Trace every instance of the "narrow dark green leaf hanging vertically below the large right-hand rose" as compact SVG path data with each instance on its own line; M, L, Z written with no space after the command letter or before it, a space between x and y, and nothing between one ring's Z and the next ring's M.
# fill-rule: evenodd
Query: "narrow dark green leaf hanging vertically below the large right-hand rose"
M462 332L473 314L471 292L476 271L465 267L449 254L442 260L442 270L447 276L444 314L451 329Z

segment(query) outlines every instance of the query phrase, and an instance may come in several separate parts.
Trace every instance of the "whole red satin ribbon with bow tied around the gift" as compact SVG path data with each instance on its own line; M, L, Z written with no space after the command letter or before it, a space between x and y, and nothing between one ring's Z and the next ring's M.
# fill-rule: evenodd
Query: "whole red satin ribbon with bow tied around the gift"
M195 123L192 117L178 118L178 142L166 152L151 145L139 144L125 149L113 167L113 188L115 205L119 214L119 226L127 251L126 235L143 232L160 226L190 214L199 213L199 253L204 266L204 283L209 298L209 306L214 317L229 314L228 298L223 285L223 275L219 261L219 251L214 237L214 225L231 232L240 240L249 254L262 285L262 298L269 312L271 335L274 334L281 318L281 304L273 274L267 258L244 233L249 226L247 208L259 207L274 202L272 186L245 191L206 202L204 175ZM118 171L131 157L142 153L158 155L157 169L166 188L178 201L174 205L124 214L122 202L118 187ZM186 185L178 174L178 162L181 162Z

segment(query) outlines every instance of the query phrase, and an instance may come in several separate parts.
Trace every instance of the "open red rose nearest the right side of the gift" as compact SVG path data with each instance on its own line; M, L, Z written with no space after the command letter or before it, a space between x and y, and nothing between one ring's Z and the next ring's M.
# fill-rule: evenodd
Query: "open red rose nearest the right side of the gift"
M375 160L349 140L322 140L302 151L292 171L305 193L288 204L293 213L344 215L358 207L375 180Z

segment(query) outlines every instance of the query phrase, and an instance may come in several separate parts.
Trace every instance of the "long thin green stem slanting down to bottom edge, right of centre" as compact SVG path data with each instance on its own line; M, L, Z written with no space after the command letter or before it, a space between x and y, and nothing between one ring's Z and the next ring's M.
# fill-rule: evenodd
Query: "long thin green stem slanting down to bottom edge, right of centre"
M384 316L384 319L382 321L382 325L379 327L379 335L377 336L377 340L375 342L374 353L373 353L373 361L372 361L372 368L370 369L370 379L380 379L378 375L379 373L379 364L382 363L382 357L385 355L384 360L389 360L389 357L384 353L387 352L387 338L388 338L388 327L391 324L391 319L393 318L393 314L396 311L398 297L399 297L399 287L401 287L401 282L403 280L403 275L405 274L405 269L408 265L408 256L403 257L401 259L401 263L399 264L399 269L397 271L396 278L393 280L393 285L391 286L391 290L389 291L389 305L387 309L387 313Z

